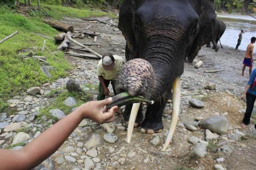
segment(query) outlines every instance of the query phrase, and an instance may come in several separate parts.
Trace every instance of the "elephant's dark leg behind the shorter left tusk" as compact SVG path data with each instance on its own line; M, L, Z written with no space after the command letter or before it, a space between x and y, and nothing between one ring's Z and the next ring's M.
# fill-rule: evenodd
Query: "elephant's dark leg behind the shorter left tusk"
M132 104L128 104L125 106L125 112L124 112L123 117L124 117L124 120L126 121L126 124L129 123L131 108L132 108ZM135 128L138 127L140 125L140 123L142 122L142 120L143 120L143 114L142 114L142 103L141 103L135 123L134 123L134 127Z

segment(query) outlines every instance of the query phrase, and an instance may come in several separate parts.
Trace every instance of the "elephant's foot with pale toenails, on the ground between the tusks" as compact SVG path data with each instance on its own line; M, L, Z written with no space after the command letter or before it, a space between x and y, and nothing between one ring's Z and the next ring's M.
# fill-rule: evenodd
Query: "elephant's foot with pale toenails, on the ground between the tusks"
M142 122L141 123L141 133L153 134L153 133L160 133L163 131L163 123L160 122Z

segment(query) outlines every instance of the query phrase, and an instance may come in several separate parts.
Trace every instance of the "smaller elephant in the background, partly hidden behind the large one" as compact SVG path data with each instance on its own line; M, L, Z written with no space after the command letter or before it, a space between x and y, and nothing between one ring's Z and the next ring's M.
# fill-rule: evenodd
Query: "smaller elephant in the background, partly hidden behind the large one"
M214 30L209 35L209 39L208 39L206 47L211 47L210 43L212 42L212 44L213 44L212 49L214 49L215 51L218 51L219 47L218 47L217 43L219 41L219 43L221 45L220 38L224 34L225 30L226 30L226 24L223 21L216 18ZM223 48L222 45L221 45L221 48Z

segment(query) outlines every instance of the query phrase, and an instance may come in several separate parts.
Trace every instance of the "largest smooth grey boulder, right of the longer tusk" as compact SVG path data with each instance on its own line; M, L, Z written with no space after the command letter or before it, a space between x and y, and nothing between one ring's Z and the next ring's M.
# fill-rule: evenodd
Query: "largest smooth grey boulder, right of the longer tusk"
M229 128L228 119L224 116L213 116L202 120L199 125L213 133L225 134Z

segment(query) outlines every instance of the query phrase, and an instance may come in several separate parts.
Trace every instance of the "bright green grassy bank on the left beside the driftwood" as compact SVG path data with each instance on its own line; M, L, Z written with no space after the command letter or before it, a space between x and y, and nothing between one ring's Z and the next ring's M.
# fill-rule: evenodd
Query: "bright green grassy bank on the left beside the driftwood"
M51 38L58 34L57 30L42 22L42 16L48 15L59 19L63 16L85 18L106 15L106 13L93 12L89 9L79 10L46 4L41 6L43 10L30 11L30 17L18 14L5 5L0 6L0 39L19 31L17 35L0 44L0 111L7 106L6 100L18 95L18 92L63 77L71 68L63 52L56 52L57 45L54 40L34 34L38 33ZM46 47L49 50L45 49L41 52L43 40L46 40ZM54 52L54 55L50 51ZM51 72L53 77L48 78L41 72L39 61L24 60L21 56L23 53L26 55L26 52L45 56L49 66L55 68Z

